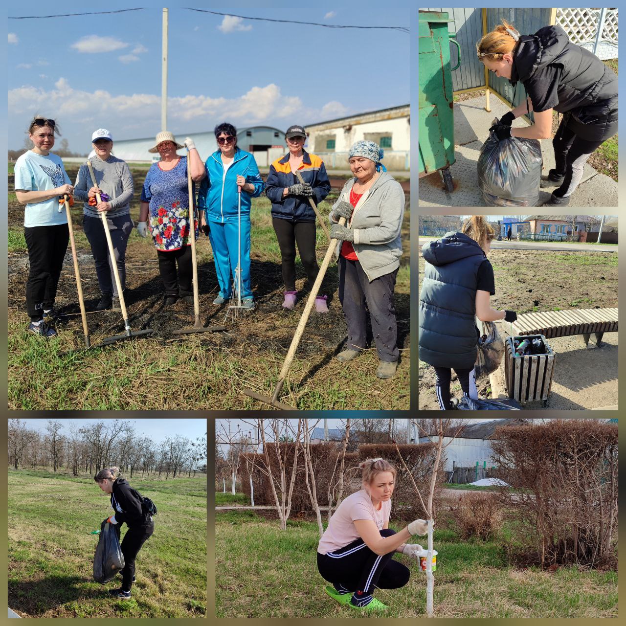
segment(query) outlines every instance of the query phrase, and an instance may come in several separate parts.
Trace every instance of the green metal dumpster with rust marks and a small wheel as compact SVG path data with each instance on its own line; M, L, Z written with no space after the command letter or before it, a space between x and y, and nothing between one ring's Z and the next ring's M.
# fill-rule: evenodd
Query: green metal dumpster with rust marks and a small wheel
M449 167L454 163L454 96L452 71L461 64L461 47L448 33L448 13L419 11L419 176L439 171L453 191ZM458 63L450 67L450 43Z

